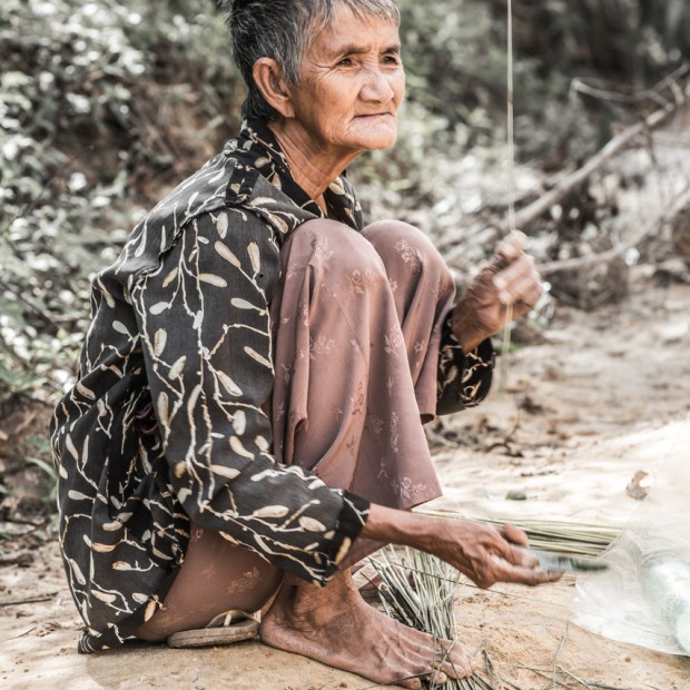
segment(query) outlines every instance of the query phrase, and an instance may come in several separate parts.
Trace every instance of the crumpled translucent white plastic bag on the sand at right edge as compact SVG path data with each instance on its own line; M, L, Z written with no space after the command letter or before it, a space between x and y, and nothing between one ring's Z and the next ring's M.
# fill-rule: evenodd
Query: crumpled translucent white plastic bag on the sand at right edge
M690 655L690 417L640 507L601 561L578 581L573 622L604 637Z

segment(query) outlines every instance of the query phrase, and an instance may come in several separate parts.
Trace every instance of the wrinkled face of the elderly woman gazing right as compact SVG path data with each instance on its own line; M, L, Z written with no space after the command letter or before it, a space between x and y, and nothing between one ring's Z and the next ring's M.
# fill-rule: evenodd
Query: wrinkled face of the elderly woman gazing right
M339 8L312 42L292 92L295 124L334 154L393 146L405 95L397 27Z

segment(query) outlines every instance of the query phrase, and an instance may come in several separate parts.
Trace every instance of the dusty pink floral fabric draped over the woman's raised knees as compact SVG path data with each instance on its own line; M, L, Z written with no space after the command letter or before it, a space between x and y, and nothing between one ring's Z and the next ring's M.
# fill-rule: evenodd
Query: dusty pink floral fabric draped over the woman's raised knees
M441 328L455 296L443 258L401 221L357 233L325 219L299 226L280 256L276 459L391 507L438 496L422 425L435 415Z

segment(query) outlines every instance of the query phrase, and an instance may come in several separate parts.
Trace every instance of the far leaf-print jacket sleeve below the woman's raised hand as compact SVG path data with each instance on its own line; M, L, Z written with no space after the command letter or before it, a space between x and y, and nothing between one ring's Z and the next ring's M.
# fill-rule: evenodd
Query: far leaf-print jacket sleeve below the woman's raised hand
M495 354L486 338L470 352L463 352L451 329L453 312L443 323L438 354L436 414L451 414L479 405L489 395Z

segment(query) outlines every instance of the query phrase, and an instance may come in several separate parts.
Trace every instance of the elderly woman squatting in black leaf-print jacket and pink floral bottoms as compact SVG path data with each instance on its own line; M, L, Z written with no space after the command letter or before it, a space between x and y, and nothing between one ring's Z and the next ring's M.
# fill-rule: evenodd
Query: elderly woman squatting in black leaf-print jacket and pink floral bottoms
M486 394L487 336L506 304L534 304L539 276L511 236L453 306L422 233L363 227L344 170L395 140L393 0L224 4L241 131L96 277L55 412L80 650L263 610L265 643L376 682L465 676L460 645L365 604L351 568L395 543L480 586L554 579L514 528L410 512L440 494L423 422Z

